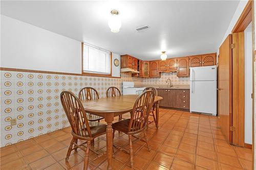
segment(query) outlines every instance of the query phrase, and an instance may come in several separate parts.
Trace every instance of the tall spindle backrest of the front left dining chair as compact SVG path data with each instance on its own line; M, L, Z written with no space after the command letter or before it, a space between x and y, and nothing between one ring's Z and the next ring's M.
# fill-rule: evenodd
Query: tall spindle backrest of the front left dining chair
M62 91L60 93L60 101L73 133L81 137L92 137L86 111L77 96L70 91Z

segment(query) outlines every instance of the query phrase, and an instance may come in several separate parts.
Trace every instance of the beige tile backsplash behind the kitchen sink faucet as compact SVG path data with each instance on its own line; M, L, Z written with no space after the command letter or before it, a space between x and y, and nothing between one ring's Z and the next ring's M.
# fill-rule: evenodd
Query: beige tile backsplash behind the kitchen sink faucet
M161 78L143 78L143 85L167 85L166 80L170 79L173 84L189 84L189 77L177 77L174 73L161 73Z

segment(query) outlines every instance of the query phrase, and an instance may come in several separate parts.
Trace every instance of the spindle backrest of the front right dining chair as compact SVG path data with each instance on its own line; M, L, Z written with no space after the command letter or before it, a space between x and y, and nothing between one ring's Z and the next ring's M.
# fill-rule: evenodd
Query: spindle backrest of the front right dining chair
M131 113L129 132L143 130L146 126L147 118L152 109L154 100L155 94L152 90L146 90L139 95Z

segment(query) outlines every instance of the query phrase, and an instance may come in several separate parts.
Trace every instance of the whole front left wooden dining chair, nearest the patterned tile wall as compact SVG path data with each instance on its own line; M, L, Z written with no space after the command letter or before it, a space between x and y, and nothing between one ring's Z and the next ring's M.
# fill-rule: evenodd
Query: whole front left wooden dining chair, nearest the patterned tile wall
M62 91L60 93L60 100L71 125L71 134L73 136L70 142L66 161L69 160L72 150L77 151L77 148L80 148L86 152L83 169L87 169L91 141L106 133L106 125L99 122L88 122L86 111L84 110L81 101L75 96L74 93L70 91ZM86 142L79 145L77 144L78 139L85 140ZM86 149L84 148L85 143L87 143Z

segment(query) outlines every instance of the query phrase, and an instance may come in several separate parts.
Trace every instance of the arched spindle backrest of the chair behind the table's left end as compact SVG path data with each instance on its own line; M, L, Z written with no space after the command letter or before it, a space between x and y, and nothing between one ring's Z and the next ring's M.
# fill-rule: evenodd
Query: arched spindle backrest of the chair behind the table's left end
M99 99L98 91L92 87L84 87L78 93L78 98L81 101L92 101Z

